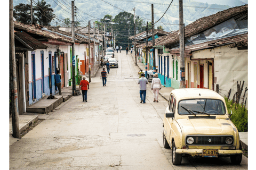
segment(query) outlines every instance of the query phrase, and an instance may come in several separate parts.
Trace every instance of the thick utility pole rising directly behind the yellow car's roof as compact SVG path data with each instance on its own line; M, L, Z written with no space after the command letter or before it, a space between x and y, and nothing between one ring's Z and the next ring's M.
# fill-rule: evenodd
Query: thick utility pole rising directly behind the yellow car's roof
M179 0L180 19L180 89L185 86L185 58L184 58L184 25L183 25L183 0Z

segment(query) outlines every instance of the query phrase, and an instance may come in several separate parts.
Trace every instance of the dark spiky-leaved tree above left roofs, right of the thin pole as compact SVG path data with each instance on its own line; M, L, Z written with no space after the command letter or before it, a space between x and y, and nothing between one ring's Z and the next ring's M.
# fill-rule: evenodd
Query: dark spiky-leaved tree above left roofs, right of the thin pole
M38 22L41 25L50 26L52 19L54 18L53 9L50 4L46 4L45 0L38 1L37 6L34 6L35 15L37 16Z

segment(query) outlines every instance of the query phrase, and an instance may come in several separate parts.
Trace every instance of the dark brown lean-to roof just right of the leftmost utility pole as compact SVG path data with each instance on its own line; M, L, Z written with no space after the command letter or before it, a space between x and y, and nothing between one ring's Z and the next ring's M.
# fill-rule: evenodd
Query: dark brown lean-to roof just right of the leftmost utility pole
M26 32L24 31L15 31L14 33L16 36L18 36L24 43L26 43L28 46L32 47L34 50L35 49L45 49L48 46L44 45L37 39L29 36Z

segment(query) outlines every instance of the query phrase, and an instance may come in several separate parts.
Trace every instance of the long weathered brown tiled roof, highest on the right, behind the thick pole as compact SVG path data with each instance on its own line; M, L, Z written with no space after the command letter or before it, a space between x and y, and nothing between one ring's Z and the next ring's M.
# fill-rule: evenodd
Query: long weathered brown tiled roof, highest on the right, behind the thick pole
M190 23L185 27L185 39L193 35L197 35L198 33L201 33L209 28L212 28L215 25L218 25L230 18L233 18L236 15L246 12L247 10L248 5L236 6L196 20L195 22ZM178 44L179 40L179 31L176 31L174 33L170 33L167 36L161 37L161 39L155 42L155 45L171 46L174 44ZM152 44L148 44L148 48L152 48Z

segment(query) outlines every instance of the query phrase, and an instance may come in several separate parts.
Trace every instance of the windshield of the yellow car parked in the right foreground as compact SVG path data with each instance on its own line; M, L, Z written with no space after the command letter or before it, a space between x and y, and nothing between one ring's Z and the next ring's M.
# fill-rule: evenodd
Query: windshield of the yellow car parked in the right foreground
M219 114L226 113L226 108L221 100L217 99L187 99L181 100L178 106L180 115L186 114Z

